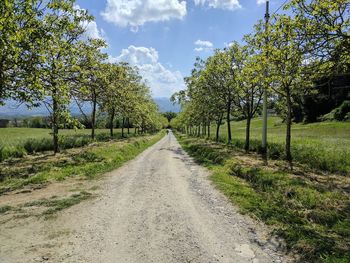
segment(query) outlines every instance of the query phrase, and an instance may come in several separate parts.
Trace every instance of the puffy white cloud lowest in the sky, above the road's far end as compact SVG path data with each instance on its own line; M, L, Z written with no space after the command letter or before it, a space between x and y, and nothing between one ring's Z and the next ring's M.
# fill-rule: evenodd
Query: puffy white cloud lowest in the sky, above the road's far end
M153 96L170 97L185 87L180 71L172 71L159 62L158 51L154 48L129 46L118 57L110 57L111 62L128 62L139 69L147 80Z

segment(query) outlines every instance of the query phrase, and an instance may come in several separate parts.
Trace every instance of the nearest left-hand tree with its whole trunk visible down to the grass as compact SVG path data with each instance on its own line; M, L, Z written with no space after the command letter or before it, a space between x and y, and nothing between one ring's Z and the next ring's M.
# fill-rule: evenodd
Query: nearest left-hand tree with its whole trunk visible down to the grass
M73 7L74 0L52 1L45 10L41 27L45 32L42 62L37 65L42 100L51 113L54 152L59 152L58 131L62 120L76 125L68 109L72 86L79 74L79 41L84 33L83 21L91 16Z

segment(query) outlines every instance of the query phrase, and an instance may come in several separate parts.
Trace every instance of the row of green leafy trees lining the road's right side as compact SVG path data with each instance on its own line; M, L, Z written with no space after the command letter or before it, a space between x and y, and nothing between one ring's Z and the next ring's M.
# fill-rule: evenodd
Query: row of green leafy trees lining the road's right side
M285 120L285 156L292 161L293 105L315 92L314 82L325 76L350 73L350 3L348 0L292 0L285 14L273 14L266 27L259 21L242 44L232 42L203 60L196 59L187 89L173 101L182 112L172 122L183 132L210 137L210 126L227 123L232 141L232 117L246 119L245 150L249 151L251 119L261 111L263 87ZM288 15L289 14L289 15Z

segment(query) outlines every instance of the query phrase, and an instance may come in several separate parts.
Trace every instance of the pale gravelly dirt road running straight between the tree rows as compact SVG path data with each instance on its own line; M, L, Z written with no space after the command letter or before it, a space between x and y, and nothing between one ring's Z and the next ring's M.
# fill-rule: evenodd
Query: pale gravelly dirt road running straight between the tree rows
M287 262L167 135L56 218L0 226L0 262Z

